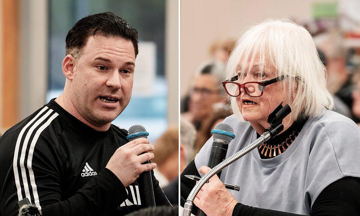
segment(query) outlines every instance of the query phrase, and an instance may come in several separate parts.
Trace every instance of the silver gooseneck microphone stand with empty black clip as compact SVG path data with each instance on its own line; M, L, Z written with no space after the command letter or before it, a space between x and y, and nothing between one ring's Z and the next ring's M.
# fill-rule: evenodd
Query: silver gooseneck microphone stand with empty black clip
M229 158L225 159L214 168L212 168L207 174L205 174L194 186L191 190L188 198L186 199L186 203L184 204L184 211L183 216L190 216L192 208L193 208L193 201L198 194L201 187L207 183L207 181L218 172L220 172L225 167L229 166L231 163L235 162L237 159L243 157L245 154L249 153L252 149L258 147L259 145L263 144L265 141L274 138L276 135L279 134L284 129L284 125L282 124L283 119L291 112L291 108L288 104L284 107L282 103L276 109L270 113L269 117L267 118L267 122L270 124L270 127L265 130L264 134L261 134L258 139L253 141L247 147L241 149L239 152L233 154Z

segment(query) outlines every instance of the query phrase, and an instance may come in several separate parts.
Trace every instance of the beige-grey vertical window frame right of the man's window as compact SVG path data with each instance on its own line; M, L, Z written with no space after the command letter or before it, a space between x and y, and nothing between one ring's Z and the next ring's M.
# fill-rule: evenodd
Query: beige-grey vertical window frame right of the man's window
M166 1L165 10L165 75L167 79L168 126L179 124L179 3Z

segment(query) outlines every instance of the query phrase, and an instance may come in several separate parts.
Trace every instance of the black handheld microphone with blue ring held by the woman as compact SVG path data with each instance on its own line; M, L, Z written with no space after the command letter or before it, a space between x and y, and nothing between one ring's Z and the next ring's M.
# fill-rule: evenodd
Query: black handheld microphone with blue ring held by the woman
M214 168L216 165L224 161L228 152L228 145L235 138L234 129L227 123L219 123L211 130L214 141L212 143L211 152L207 166ZM221 171L217 173L220 178ZM197 216L205 216L206 214L199 208Z

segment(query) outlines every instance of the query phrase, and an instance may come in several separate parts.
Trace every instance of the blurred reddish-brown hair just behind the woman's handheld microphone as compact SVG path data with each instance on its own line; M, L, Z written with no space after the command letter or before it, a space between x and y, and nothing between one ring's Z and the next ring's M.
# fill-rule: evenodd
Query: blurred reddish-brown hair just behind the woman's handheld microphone
M212 113L204 123L201 125L200 130L196 134L195 140L195 152L198 153L202 146L208 139L211 138L211 130L215 128L218 123L224 121L224 119L233 114L229 109L220 109Z

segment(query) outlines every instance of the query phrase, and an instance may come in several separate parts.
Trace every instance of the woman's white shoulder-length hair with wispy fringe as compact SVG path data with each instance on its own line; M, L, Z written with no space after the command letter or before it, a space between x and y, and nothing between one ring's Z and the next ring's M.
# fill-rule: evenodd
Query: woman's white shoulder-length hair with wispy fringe
M251 71L254 60L259 63L259 73L274 68L276 77L286 77L280 83L292 110L290 119L315 117L324 108L333 107L332 96L326 87L325 67L305 28L287 19L266 20L250 27L230 55L225 69L226 78L239 73L241 80L244 73ZM241 121L235 97L230 97L230 103Z

